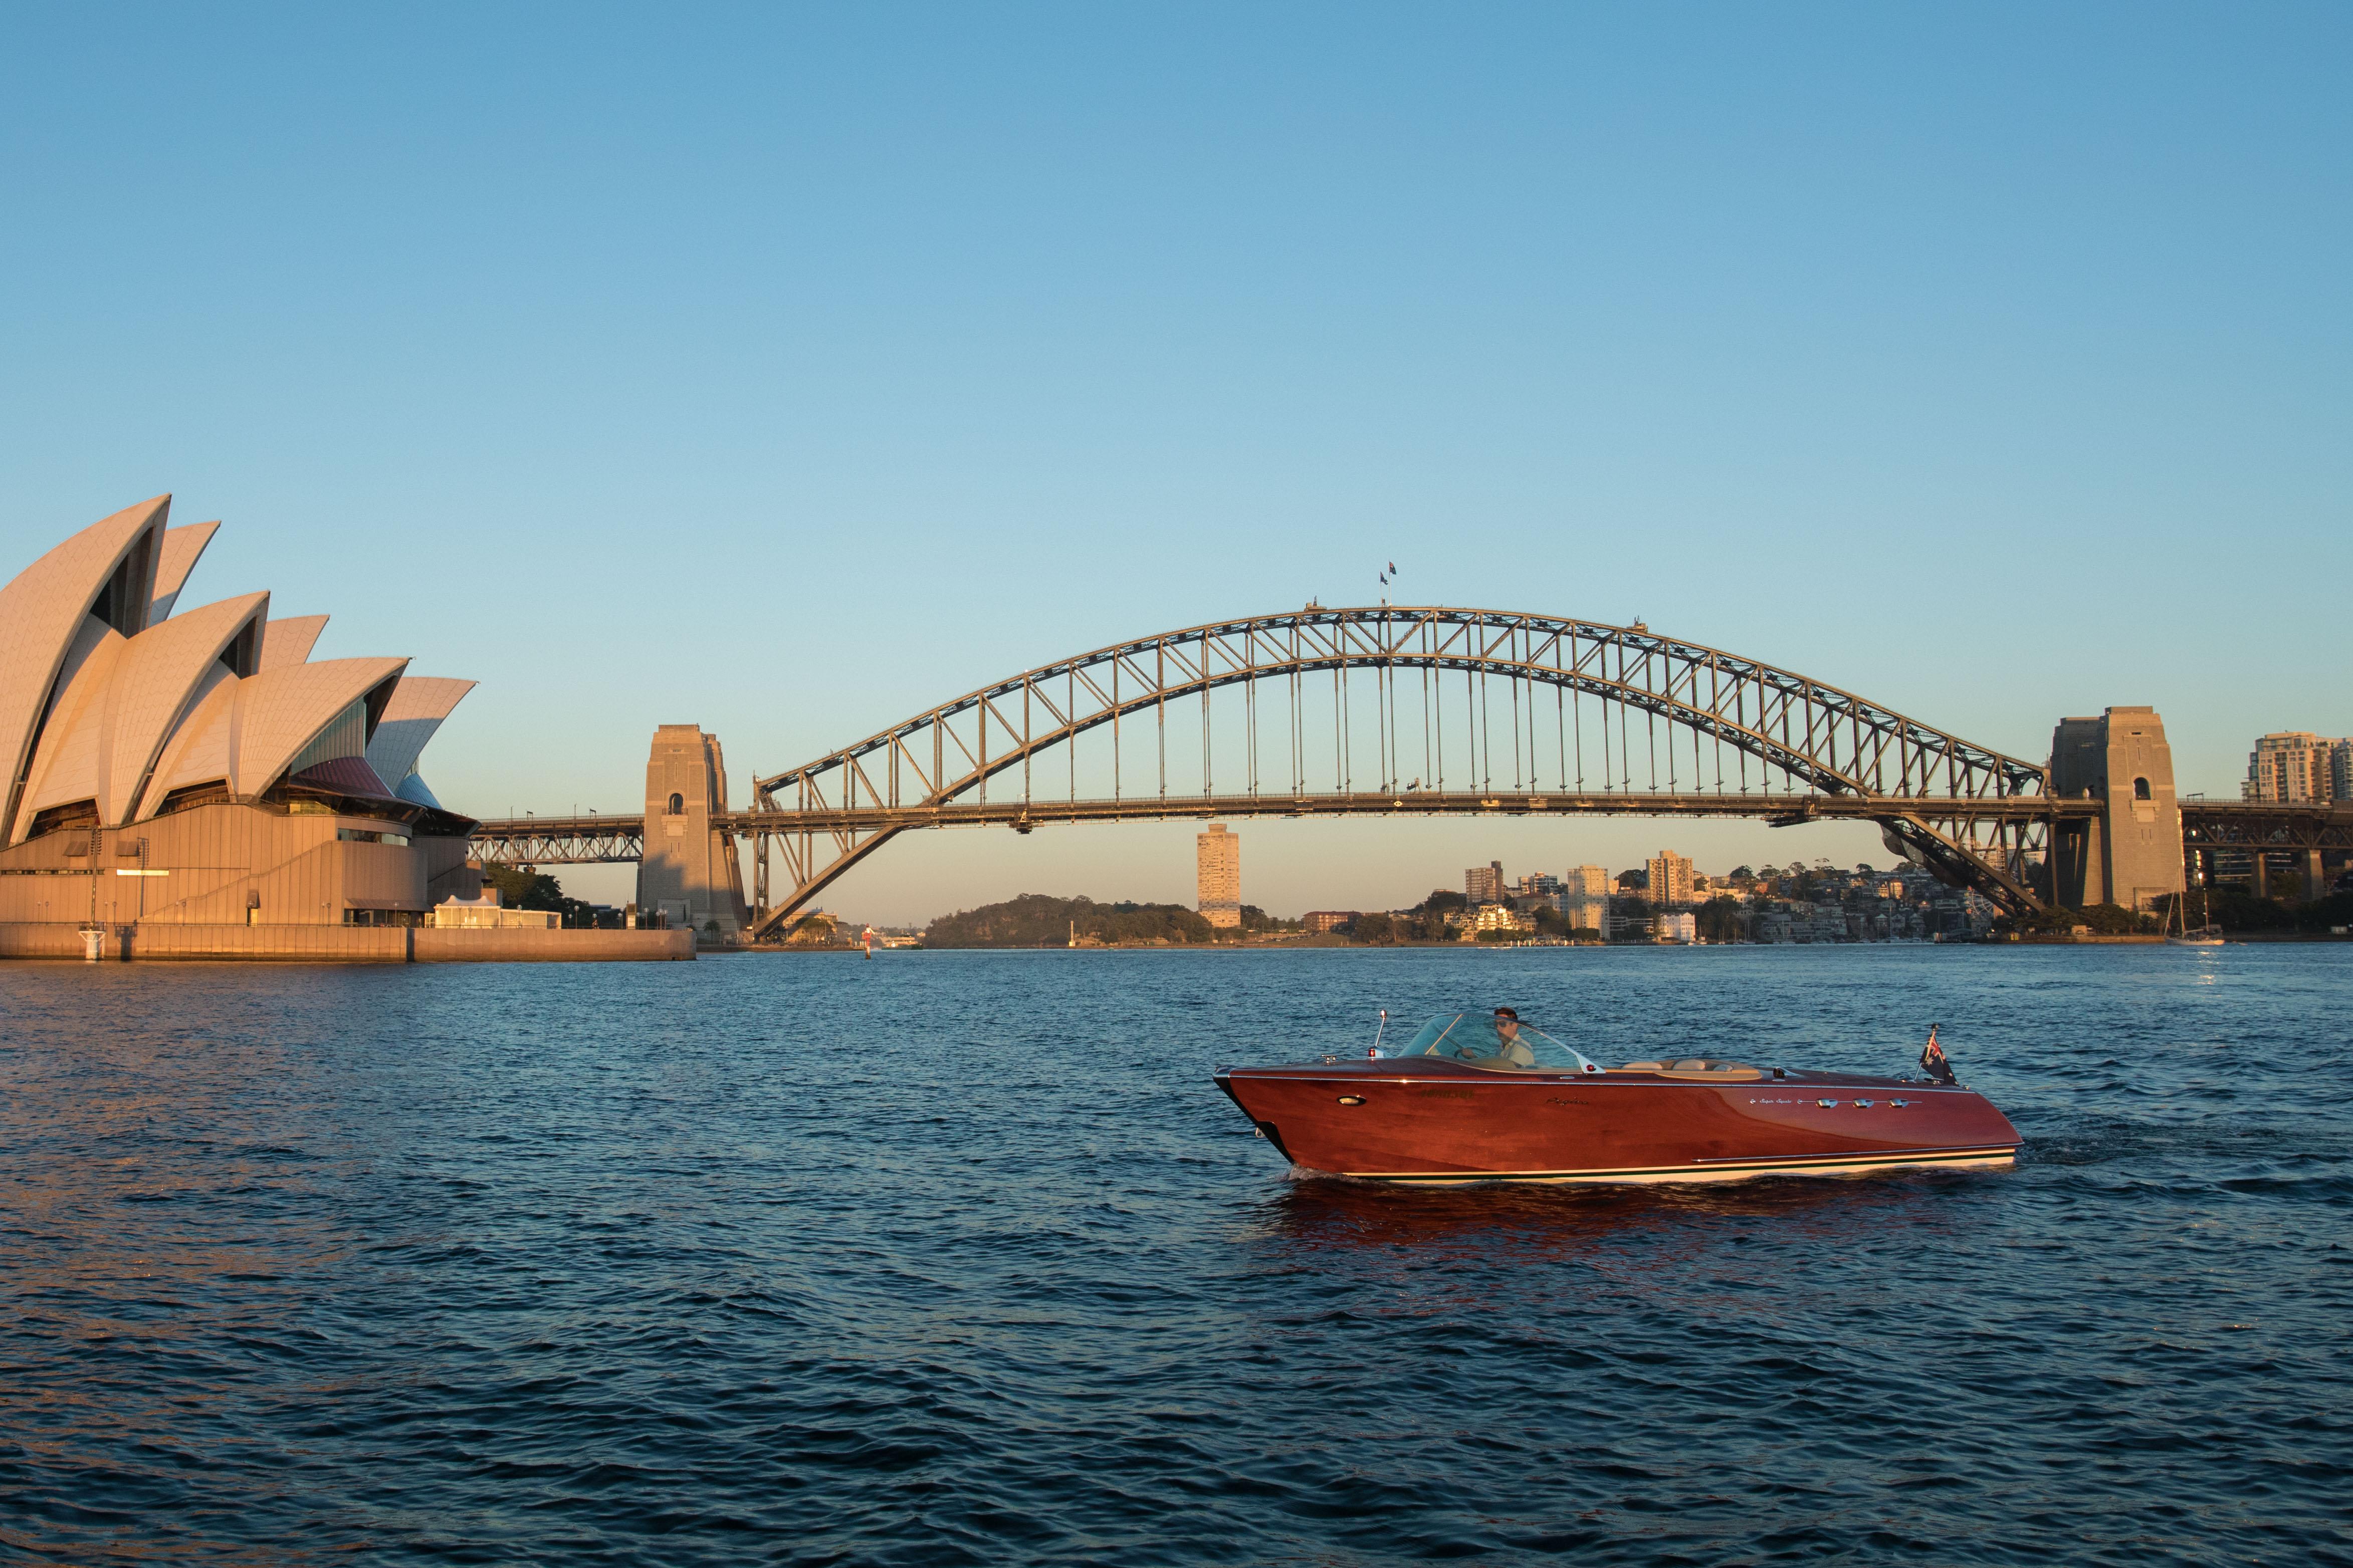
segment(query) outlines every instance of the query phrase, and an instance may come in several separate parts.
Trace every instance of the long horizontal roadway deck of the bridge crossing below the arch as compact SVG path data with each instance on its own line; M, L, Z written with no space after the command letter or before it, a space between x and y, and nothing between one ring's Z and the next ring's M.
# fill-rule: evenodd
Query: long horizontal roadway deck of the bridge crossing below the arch
M826 806L809 811L722 811L713 827L751 837L758 832L880 832L885 827L1031 827L1066 823L1200 820L1200 818L1320 818L1320 816L1746 816L1774 825L1875 820L1920 816L1929 820L2052 820L2099 816L2099 802L2045 799L2038 795L1953 799L1915 795L1527 795L1482 792L1353 792L1353 795L1188 795L1141 799L988 799L941 806ZM2353 813L2348 813L2353 820ZM527 816L485 820L473 835L494 860L529 865L579 865L635 860L642 856L642 816Z

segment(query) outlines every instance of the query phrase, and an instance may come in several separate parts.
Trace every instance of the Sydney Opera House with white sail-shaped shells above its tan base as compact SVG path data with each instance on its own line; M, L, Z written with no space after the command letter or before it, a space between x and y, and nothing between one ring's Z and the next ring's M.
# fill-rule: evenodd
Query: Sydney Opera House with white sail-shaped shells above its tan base
M160 496L0 588L0 954L339 947L471 898L473 823L416 759L473 682L405 658L311 658L325 616L271 595L181 607L219 524ZM308 933L308 940L306 940Z

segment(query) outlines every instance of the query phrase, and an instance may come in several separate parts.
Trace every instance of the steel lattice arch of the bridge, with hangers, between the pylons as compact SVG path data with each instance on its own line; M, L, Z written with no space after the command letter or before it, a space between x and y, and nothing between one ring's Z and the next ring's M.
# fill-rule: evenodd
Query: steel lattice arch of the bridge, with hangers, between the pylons
M1306 703L1325 705L1334 726L1332 788L1308 788ZM1353 778L1362 741L1362 698L1348 679L1372 679L1369 736L1377 778L1360 790ZM1407 682L1412 677L1412 682ZM1445 736L1445 684L1464 684L1459 726ZM1308 682L1315 691L1308 691ZM1497 698L1492 686L1506 686ZM1228 780L1214 788L1212 701L1240 689L1245 755L1228 759ZM1546 729L1537 696L1551 691ZM1417 701L1419 696L1419 701ZM1165 762L1167 708L1200 701L1200 792L1169 792ZM1402 701L1400 701L1402 698ZM1508 717L1504 712L1508 701ZM1591 719L1600 712L1600 788L1588 790ZM1569 759L1574 717L1574 771ZM1278 773L1264 745L1261 708L1285 724L1285 764ZM1400 719L1400 708L1405 717ZM1153 719L1158 769L1136 795L1122 792L1125 729ZM1633 729L1645 726L1647 790L1635 785ZM1414 724L1409 729L1407 724ZM1497 729L1508 722L1508 738ZM1433 724L1438 733L1433 733ZM1609 741L1617 724L1617 745ZM1666 783L1659 790L1659 726L1666 726ZM1038 792L1040 757L1071 752L1080 736L1108 731L1108 799L1080 811L1075 752L1068 795ZM1419 733L1417 733L1419 731ZM1546 738L1558 748L1558 788L1539 778ZM1320 745L1320 741L1318 741ZM1471 766L1464 788L1447 788L1447 748ZM1692 790L1682 788L1682 762ZM1513 790L1494 783L1508 748ZM1419 752L1424 769L1400 783ZM1706 769L1713 755L1713 792ZM1727 778L1727 755L1737 783ZM1320 752L1318 752L1320 757ZM1424 783L1424 773L1431 773ZM1459 776L1457 776L1459 778ZM1009 788L1009 785L1016 785ZM995 790L995 799L991 799ZM1035 820L1106 820L1153 816L1266 813L1315 809L1374 809L1435 813L1518 806L1600 806L1661 813L1767 816L1777 823L1852 816L1875 820L1892 851L1927 865L1941 879L1974 889L2012 912L2040 907L2031 865L2045 860L2049 825L2068 804L2049 797L2042 764L2007 757L1828 686L1793 670L1741 658L1675 637L1640 621L1605 625L1522 611L1454 607L1306 609L1214 621L1101 646L967 691L948 703L880 729L854 745L753 783L755 809L734 813L732 827L755 839L755 936L772 936L833 879L908 827L953 820L1005 820L1028 830ZM781 849L791 886L767 900L767 853Z

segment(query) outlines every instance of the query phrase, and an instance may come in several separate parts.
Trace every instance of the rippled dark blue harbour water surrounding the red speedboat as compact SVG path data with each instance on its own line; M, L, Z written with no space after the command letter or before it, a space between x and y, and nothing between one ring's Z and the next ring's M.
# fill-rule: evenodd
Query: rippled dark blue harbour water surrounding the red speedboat
M1513 1001L2012 1173L1287 1180ZM0 1556L2353 1561L2353 947L0 966Z

